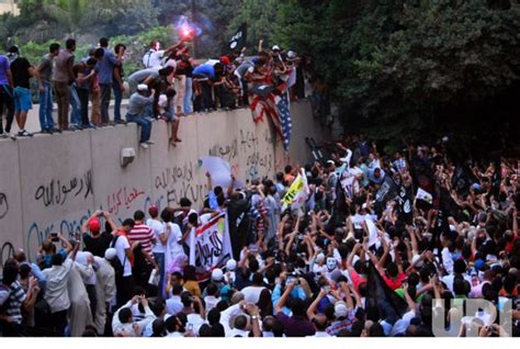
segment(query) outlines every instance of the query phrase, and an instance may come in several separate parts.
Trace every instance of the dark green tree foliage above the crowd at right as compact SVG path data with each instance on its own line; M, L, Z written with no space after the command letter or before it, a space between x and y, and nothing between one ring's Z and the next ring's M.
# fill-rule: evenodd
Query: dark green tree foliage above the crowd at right
M289 0L275 37L314 57L346 131L395 147L405 135L482 133L513 121L519 32L518 3L496 10L481 0Z

